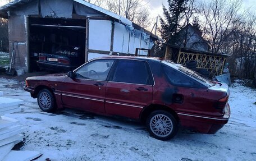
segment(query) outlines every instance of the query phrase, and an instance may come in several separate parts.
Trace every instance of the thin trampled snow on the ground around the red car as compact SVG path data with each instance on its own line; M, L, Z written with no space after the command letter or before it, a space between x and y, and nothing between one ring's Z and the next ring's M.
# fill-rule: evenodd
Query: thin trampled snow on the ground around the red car
M0 79L4 96L25 101L8 114L25 128L21 150L43 153L38 160L255 160L256 90L230 88L230 121L214 135L180 130L169 141L149 136L139 123L66 109L40 111L36 99L14 80Z

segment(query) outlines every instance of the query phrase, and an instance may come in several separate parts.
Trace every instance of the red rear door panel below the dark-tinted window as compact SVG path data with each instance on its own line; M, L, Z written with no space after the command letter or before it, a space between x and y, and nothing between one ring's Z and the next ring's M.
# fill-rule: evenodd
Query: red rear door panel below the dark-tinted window
M147 91L138 91L145 88ZM152 104L152 85L124 84L108 82L106 91L106 113L139 119L143 107Z

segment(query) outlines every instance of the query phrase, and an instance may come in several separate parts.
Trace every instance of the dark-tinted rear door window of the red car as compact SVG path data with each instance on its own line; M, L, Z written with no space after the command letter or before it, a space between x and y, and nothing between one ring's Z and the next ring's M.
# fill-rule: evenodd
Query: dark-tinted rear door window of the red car
M147 63L132 60L118 61L112 81L149 85L150 77Z

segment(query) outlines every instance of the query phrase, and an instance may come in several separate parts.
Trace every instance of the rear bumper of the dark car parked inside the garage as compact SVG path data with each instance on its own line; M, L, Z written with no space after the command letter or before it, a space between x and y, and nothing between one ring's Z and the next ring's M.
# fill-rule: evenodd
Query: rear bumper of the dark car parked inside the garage
M72 71L77 66L69 66L69 65L58 65L56 63L50 63L50 62L36 62L39 68L45 69L45 70L51 70L51 71Z

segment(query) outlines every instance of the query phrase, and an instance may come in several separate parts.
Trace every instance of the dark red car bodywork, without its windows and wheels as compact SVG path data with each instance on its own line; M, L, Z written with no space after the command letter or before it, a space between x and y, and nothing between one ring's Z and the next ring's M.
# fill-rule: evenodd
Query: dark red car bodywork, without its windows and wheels
M98 58L107 59L107 58ZM170 84L161 70L161 61L153 58L109 57L109 59L140 59L149 62L152 85L123 82L71 79L67 75L29 77L24 87L36 98L40 87L52 89L58 108L79 108L84 111L122 116L139 120L150 105L161 105L175 112L180 125L204 134L214 134L230 117L230 107L216 108L218 100L228 97L227 86L188 88ZM97 60L97 59L96 59ZM100 83L100 86L95 85ZM137 90L143 88L145 90ZM224 89L224 90L221 90Z

